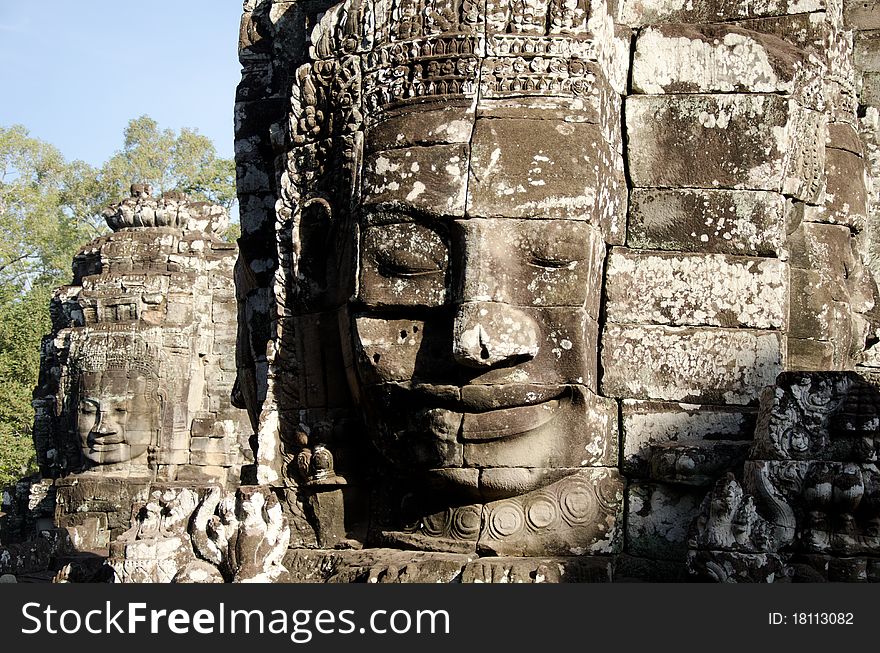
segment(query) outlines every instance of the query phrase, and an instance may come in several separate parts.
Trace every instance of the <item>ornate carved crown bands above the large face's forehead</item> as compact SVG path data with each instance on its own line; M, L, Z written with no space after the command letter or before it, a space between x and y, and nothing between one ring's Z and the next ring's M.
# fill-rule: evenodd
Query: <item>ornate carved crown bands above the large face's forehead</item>
M349 0L315 27L311 55L362 55L368 115L478 93L586 97L608 58L597 32L613 35L590 14L585 0Z

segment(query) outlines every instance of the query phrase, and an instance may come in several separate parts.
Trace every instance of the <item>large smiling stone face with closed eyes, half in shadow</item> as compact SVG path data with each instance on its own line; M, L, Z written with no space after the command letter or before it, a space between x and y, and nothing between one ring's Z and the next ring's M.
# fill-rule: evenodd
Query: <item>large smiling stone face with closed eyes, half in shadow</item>
M466 140L383 140L414 121ZM367 132L355 391L398 469L491 501L615 464L595 395L596 138L552 115L448 110Z

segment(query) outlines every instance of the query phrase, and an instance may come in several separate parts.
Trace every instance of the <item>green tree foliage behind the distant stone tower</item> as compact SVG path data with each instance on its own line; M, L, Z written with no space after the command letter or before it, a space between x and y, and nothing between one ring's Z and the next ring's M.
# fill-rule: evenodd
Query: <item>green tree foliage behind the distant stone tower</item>
M0 126L0 488L34 469L30 402L52 288L70 281L74 254L107 231L102 210L133 183L227 209L235 202L234 162L195 130L160 129L141 116L121 150L94 168L20 125Z

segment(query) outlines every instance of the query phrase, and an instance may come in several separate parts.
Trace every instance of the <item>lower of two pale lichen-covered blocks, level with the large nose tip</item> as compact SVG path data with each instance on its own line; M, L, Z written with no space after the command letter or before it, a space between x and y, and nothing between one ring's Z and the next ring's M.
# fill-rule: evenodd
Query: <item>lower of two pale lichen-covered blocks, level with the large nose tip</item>
M780 333L608 325L601 393L691 403L754 403L782 371Z

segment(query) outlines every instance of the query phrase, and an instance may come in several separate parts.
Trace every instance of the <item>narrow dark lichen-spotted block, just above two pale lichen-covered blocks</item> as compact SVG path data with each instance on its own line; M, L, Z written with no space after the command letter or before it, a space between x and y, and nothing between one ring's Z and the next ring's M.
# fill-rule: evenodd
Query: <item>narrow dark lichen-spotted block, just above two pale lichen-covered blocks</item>
M637 188L630 196L627 246L779 256L787 213L778 193Z

